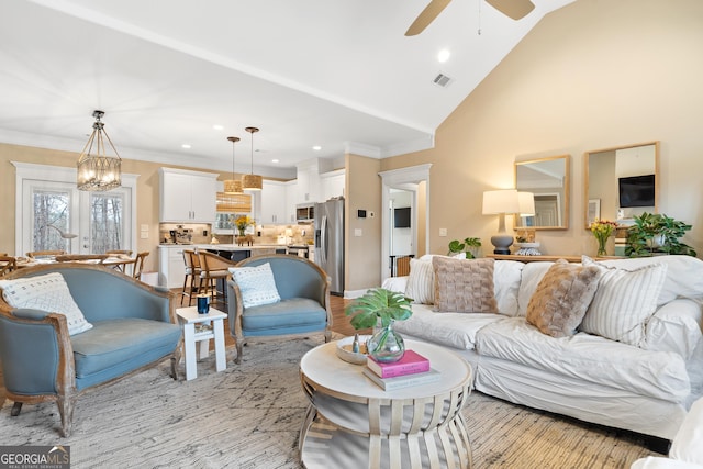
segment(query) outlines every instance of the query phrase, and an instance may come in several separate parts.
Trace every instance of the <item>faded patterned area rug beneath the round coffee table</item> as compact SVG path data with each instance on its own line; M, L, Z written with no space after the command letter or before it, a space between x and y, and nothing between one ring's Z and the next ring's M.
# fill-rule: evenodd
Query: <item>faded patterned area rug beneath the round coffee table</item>
M71 468L299 468L298 434L308 406L298 364L322 337L252 342L242 365L174 381L168 361L76 405L74 432L58 436L54 404L0 409L1 445L69 445ZM637 437L513 405L473 392L465 409L473 467L628 468L651 454Z

